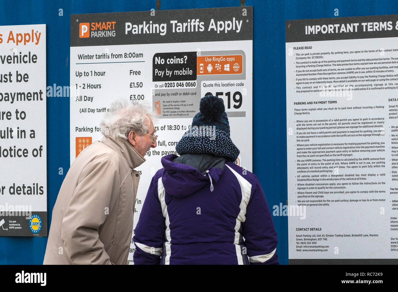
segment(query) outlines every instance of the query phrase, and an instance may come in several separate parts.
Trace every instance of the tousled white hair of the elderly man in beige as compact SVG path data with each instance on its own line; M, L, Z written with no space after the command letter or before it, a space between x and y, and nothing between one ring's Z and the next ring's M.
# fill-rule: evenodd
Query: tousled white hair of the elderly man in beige
M154 114L146 104L121 99L112 102L100 123L101 133L113 140L127 140L130 131L136 131L140 136L148 133L150 120L154 122Z

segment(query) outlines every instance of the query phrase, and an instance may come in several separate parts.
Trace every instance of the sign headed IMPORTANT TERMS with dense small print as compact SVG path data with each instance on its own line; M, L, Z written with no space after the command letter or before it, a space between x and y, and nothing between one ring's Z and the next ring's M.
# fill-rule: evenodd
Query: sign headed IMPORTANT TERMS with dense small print
M289 263L397 263L397 41L398 15L286 21Z

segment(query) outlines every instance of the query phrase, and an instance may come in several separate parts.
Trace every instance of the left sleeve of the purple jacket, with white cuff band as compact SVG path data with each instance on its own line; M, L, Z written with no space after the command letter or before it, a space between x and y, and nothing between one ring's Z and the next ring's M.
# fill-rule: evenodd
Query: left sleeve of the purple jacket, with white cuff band
M158 180L150 182L148 193L142 205L140 219L135 228L133 255L135 265L159 265L165 242L165 218L158 198ZM159 178L162 179L162 178Z

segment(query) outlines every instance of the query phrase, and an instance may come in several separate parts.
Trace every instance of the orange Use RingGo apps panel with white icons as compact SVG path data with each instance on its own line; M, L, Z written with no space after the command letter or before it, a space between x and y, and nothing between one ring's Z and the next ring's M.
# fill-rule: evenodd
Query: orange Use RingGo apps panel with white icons
M241 74L242 55L197 56L196 75Z

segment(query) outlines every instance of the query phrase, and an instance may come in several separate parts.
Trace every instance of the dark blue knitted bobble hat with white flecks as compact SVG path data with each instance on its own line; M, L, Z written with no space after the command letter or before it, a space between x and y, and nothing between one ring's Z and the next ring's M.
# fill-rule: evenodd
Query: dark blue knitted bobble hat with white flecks
M200 101L192 125L176 145L179 155L208 153L236 161L239 149L232 143L224 102L219 97L206 95Z

